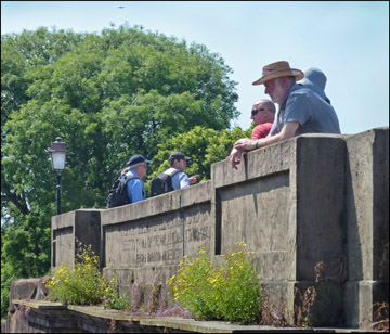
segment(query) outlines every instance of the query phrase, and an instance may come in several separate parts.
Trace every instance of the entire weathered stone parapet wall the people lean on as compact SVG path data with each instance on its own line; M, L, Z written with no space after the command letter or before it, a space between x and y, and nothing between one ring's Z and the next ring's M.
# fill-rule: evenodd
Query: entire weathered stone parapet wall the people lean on
M388 170L388 128L300 136L245 154L238 170L213 164L211 180L190 189L53 217L52 270L72 262L77 237L128 292L129 278L165 282L183 255L205 247L219 260L244 240L289 317L295 288L315 286L315 325L358 327L373 303L389 298Z

